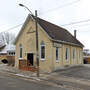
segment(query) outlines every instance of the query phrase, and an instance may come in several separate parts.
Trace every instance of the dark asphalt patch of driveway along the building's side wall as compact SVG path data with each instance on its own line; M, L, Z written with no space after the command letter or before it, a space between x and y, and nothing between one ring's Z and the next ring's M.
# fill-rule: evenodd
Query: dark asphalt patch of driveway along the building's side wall
M90 80L90 64L83 66L74 66L65 70L58 70L56 71L56 73L57 75Z

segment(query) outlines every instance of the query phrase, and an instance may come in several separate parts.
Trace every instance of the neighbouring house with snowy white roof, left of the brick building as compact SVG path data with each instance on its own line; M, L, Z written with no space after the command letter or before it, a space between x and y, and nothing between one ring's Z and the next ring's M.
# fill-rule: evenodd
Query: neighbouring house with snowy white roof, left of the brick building
M7 60L8 65L14 66L15 64L15 45L13 44L6 44L0 50L0 60Z

